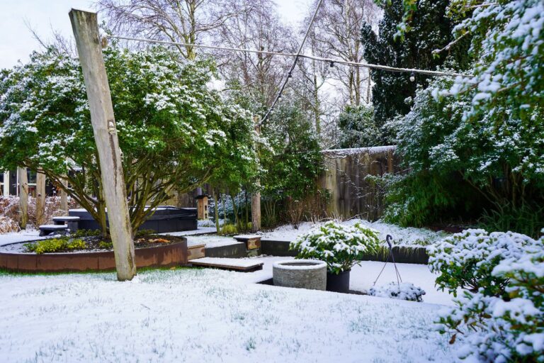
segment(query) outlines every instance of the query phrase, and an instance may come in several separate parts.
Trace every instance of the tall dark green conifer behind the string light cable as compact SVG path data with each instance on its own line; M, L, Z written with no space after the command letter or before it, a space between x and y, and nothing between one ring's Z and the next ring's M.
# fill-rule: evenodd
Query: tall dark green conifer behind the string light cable
M409 4L410 3L410 4ZM443 48L453 36L453 22L446 17L448 0L439 1L382 1L383 18L376 35L372 26L365 24L361 29L361 42L364 58L369 63L402 68L436 69L446 60L467 66L468 42L460 42L448 51L448 54L433 55L433 50ZM402 22L405 6L418 11L410 18L410 31L399 33L397 26ZM402 39L399 35L402 34ZM410 110L409 101L414 97L418 86L426 86L429 77L415 74L385 72L379 69L371 71L374 86L372 89L374 122L382 133L382 143L391 143L391 135L386 123L397 115L404 115Z

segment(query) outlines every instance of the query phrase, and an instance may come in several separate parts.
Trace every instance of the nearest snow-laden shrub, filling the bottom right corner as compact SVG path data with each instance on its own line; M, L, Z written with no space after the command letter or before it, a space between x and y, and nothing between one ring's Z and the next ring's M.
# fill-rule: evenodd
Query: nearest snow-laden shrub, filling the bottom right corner
M459 356L477 362L544 362L544 250L528 246L521 257L494 267L507 279L507 296L465 291L456 306L442 313L441 333L463 336Z

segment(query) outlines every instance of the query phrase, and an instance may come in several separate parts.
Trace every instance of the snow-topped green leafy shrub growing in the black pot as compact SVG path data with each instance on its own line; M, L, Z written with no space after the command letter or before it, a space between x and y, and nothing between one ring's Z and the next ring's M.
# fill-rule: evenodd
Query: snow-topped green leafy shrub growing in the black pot
M297 258L327 262L332 274L349 271L363 254L378 250L378 231L361 223L341 225L334 221L319 225L291 242L291 250L299 250Z

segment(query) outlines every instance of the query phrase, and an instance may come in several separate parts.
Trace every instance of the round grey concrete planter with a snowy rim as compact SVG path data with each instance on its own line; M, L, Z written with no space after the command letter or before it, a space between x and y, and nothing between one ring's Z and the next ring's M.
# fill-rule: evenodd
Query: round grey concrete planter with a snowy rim
M327 263L317 259L290 259L272 266L274 285L300 289L325 290Z

